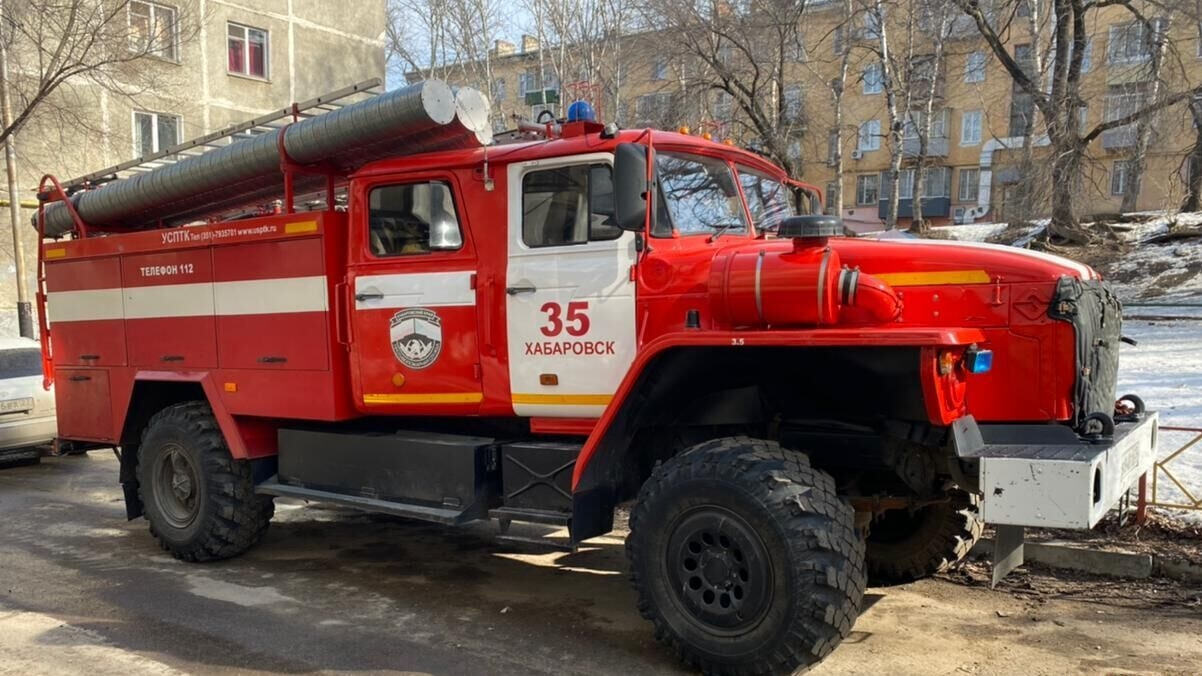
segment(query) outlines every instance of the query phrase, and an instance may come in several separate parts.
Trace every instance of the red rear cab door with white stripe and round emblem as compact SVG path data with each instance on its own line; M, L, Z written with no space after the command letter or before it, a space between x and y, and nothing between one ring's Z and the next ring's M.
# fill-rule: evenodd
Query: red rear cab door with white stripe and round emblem
M471 414L483 398L476 256L451 177L357 186L350 265L355 396L381 414Z

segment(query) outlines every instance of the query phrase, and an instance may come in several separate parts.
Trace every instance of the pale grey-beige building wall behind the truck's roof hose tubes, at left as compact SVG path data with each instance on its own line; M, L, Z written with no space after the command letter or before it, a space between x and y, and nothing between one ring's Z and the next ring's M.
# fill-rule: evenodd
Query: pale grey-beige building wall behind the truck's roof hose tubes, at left
M174 115L179 141L194 138L282 109L370 78L385 77L386 0L183 0L173 7L184 22L197 22L180 41L175 59L138 61L138 82L153 88L123 96L88 82L71 82L56 102L72 119L36 115L16 137L18 192L35 197L46 173L61 179L89 173L137 156L135 112ZM231 72L227 36L231 25L267 34L266 77ZM7 190L0 182L0 195ZM2 212L7 214L7 210ZM32 210L24 210L28 218ZM8 224L7 218L0 223ZM16 265L8 229L0 236L7 254L0 275L0 336L16 334ZM34 289L36 236L22 227L30 289Z

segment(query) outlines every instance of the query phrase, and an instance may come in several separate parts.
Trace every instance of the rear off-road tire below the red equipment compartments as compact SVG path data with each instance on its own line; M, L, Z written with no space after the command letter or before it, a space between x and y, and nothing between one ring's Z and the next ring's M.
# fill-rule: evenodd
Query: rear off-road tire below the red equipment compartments
M166 453L169 457L163 457ZM180 500L155 476L172 459L190 464L195 478L189 486L195 491L194 506L186 508L184 516L172 515L171 505ZM204 402L174 404L150 419L138 446L137 474L150 534L182 561L240 555L263 536L275 509L270 497L255 494L250 464L230 455Z

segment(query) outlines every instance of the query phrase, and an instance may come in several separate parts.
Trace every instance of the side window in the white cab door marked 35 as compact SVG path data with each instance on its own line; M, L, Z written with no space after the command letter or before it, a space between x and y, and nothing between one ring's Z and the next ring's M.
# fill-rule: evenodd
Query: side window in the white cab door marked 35
M621 237L613 219L613 170L573 165L522 178L522 241L526 247L583 244Z

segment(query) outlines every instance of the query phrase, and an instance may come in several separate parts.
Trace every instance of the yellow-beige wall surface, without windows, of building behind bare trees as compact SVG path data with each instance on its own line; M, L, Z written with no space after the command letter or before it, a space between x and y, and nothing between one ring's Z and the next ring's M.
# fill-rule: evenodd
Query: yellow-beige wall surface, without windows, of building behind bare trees
M893 43L902 47L905 35L902 22L906 17L895 12L887 19L893 29ZM829 131L833 129L834 109L828 83L838 73L840 54L835 52L839 41L837 26L844 22L840 5L811 5L802 29L805 43L804 61L792 63L786 82L796 82L803 91L804 129L798 137L798 149L804 160L803 178L822 189L834 180L834 167L829 165ZM1082 97L1085 102L1083 124L1093 128L1103 120L1107 112L1107 96L1113 85L1130 83L1146 78L1146 61L1136 64L1112 63L1108 57L1111 29L1131 22L1130 14L1123 7L1106 7L1091 13L1089 25L1090 43L1088 48L1088 71L1083 76ZM1018 25L1022 25L1019 23ZM853 25L852 29L862 26ZM989 221L1004 219L1014 213L1017 201L1030 201L1039 195L1019 195L1013 189L1016 172L1023 158L1019 140L1011 135L1011 103L1013 83L1001 64L989 52L988 46L976 34L972 26L962 30L951 40L945 41L946 63L941 75L942 94L936 109L946 120L946 150L941 156L933 158L932 164L946 167L948 172L946 196L950 206L947 215L934 219L947 223L962 213L963 220ZM1198 45L1198 28L1191 22L1178 22L1168 30L1170 64L1162 77L1166 89L1196 87L1202 83L1202 48ZM1002 34L1006 46L1013 51L1020 43L1029 42L1016 29L1014 35ZM876 120L882 134L887 134L888 119L885 107L885 93L865 87L864 71L876 60L871 52L875 42L869 35L865 40L851 38L849 75L845 87L843 156L845 173L843 178L844 217L853 221L869 224L880 223L879 200L871 203L857 204L858 177L876 176L888 168L889 152L886 138L880 138L876 149L857 152L857 130L864 123ZM504 96L499 100L498 111L504 119L513 114L530 117L534 112L519 95L519 82L523 73L537 69L540 54L537 45L522 51L516 46L514 53L498 54L493 63L495 79L502 81ZM608 119L619 118L626 126L638 126L649 120L638 119L638 100L655 94L673 94L682 88L679 64L668 63L667 67L659 65L661 57L656 54L654 36L631 36L623 47L626 57L623 64L623 77L619 89L618 106L608 99L603 101L601 112ZM929 53L930 42L920 42L916 54ZM545 70L551 69L549 59L542 60ZM494 93L496 89L494 88ZM674 99L670 115L671 124L661 126L690 126L694 132L721 129L736 142L746 142L742 137L738 124L715 125L714 94L706 96L683 96ZM567 101L571 91L563 91ZM692 105L695 101L708 101L708 105ZM563 112L563 108L559 109ZM737 120L736 120L737 121ZM1156 117L1156 134L1148 155L1148 166L1137 208L1172 208L1184 196L1188 168L1183 166L1185 153L1194 142L1194 126L1185 105L1174 106ZM1047 148L1040 144L1039 123L1033 136L1033 166L1047 166ZM1079 204L1085 215L1109 213L1119 208L1121 162L1129 158L1129 144L1113 144L1107 138L1095 140L1087 153L1084 180ZM1118 165L1117 165L1118 162ZM910 162L908 162L910 164ZM992 180L981 184L982 170L992 170ZM962 184L966 184L962 189ZM882 184L880 192L883 192ZM1048 190L1051 186L1046 186ZM1046 196L1046 190L1041 191ZM880 197L880 195L877 195ZM1036 214L1046 210L1036 206ZM905 223L906 219L903 219Z

